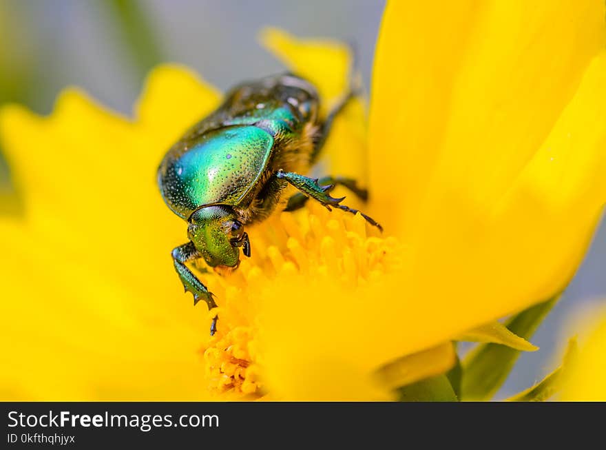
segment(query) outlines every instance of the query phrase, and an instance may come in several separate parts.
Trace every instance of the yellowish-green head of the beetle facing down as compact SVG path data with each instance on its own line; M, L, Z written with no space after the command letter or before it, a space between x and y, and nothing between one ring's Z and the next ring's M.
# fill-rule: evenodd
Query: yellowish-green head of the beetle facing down
M187 236L210 267L236 267L240 249L251 256L249 236L228 206L207 206L189 217Z

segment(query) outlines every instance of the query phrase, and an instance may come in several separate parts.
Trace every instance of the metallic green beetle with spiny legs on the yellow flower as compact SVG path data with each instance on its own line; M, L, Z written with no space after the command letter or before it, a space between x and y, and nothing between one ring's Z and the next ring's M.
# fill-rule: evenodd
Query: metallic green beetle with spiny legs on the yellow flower
M194 294L194 305L205 300L209 310L217 306L185 264L202 258L209 267L236 269L240 248L251 256L245 225L263 221L284 205L286 185L299 191L286 203L286 211L313 198L329 210L358 212L341 204L345 197L330 196L335 185L344 185L366 199L366 190L354 180L303 175L317 160L335 117L354 96L350 88L322 120L320 97L309 81L291 73L266 76L231 89L215 111L170 147L158 167L158 185L169 209L187 221L189 241L171 256L185 292ZM212 320L211 335L217 319Z

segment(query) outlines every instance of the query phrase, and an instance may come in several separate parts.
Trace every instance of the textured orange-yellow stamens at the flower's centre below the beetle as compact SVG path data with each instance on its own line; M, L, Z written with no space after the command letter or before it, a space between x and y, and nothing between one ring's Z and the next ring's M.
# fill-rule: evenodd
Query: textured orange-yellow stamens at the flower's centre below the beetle
M253 256L242 259L236 272L200 275L218 303L208 319L219 316L218 331L202 348L205 385L224 399L271 394L263 382L259 339L263 297L289 302L284 286L302 277L320 283L320 291L323 283L351 289L400 264L395 238L382 237L359 214L329 212L311 201L300 211L275 214L250 236Z

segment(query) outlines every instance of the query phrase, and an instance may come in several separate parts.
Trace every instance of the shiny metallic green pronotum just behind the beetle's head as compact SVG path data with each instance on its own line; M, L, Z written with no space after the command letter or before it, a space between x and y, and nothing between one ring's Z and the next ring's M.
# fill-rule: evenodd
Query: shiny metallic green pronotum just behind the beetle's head
M273 137L251 125L206 132L167 153L158 170L162 196L186 219L202 205L238 205L267 166L272 146Z

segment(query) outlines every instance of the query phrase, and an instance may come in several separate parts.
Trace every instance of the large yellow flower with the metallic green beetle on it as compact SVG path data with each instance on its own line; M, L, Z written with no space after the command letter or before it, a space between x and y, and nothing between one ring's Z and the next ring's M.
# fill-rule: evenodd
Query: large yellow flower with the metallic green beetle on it
M73 90L48 118L3 110L26 203L0 222L3 398L389 398L448 369L451 339L563 289L606 200L603 2L441 8L384 15L368 153L384 236L313 204L277 214L237 272L201 276L220 307L213 338L172 272L185 225L154 174L218 94L165 67L132 120ZM264 40L326 103L342 93L342 46ZM357 102L324 173L364 178L365 141Z

